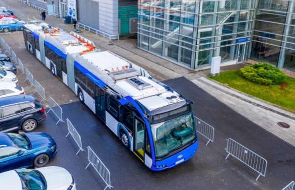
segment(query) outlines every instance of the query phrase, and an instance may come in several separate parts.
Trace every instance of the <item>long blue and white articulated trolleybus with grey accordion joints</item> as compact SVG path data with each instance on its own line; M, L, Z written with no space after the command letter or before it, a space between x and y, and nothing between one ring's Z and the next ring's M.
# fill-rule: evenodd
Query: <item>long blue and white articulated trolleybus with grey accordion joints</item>
M123 146L155 171L194 156L198 141L190 100L140 66L93 48L78 34L47 25L36 30L43 24L25 25L28 50L78 95Z

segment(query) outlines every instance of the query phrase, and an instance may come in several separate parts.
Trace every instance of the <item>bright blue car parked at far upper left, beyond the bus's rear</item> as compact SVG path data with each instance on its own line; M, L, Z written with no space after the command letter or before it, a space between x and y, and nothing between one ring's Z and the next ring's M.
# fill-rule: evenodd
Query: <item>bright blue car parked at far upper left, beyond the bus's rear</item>
M0 19L0 30L2 32L22 31L24 24L26 24L25 21L5 17Z

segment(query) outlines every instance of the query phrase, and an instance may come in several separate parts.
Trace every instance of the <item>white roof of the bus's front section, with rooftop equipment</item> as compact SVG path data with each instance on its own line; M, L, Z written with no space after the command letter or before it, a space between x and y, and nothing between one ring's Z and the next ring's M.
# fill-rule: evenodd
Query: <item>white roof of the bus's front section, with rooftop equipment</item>
M145 69L110 51L77 56L75 66L90 71L98 86L106 84L120 96L129 95L149 111L185 101L177 92L169 91L162 83L152 79Z

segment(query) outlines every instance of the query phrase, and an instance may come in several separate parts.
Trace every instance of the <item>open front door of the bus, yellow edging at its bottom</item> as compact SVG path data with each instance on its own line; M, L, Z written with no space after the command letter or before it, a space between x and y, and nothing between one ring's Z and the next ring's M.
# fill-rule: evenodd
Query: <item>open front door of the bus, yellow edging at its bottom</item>
M134 153L141 158L144 161L144 155L145 155L145 123L138 118L137 116L134 116L134 125L133 125L133 131L134 131L134 145L133 150Z

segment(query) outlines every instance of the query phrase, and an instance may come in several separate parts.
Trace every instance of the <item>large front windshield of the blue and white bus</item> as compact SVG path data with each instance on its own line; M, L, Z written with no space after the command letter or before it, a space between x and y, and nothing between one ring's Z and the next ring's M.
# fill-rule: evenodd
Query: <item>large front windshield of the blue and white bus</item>
M151 125L155 147L155 158L166 157L176 149L187 145L197 138L192 112Z

